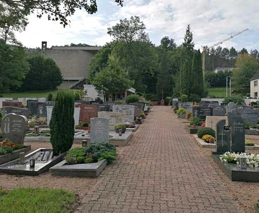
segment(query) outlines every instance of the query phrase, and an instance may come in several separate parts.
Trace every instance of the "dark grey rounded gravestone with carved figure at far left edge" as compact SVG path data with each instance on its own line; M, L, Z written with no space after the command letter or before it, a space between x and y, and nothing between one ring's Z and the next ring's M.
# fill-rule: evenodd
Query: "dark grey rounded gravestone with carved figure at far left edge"
M9 113L1 123L3 137L8 138L14 144L23 145L27 126L28 119L25 116Z

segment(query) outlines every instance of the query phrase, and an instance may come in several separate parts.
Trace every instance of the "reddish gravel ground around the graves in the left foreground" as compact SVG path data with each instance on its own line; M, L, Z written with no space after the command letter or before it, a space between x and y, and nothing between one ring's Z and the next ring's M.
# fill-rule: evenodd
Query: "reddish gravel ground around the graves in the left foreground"
M52 148L50 143L30 142L24 143L24 145L31 145L31 150L29 152L33 152L39 148ZM80 144L73 145L73 147L79 146ZM80 200L87 194L88 190L98 182L99 179L100 177L94 179L90 177L52 176L50 172L45 172L39 176L9 175L0 173L0 189L4 188L11 190L21 187L67 189L77 195L78 204L80 204Z

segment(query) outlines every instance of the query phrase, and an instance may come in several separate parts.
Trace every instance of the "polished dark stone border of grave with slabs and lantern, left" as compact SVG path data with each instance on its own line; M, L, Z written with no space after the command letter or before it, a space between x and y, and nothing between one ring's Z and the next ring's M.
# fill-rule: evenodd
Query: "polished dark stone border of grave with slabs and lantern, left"
M30 158L30 156L33 156L33 155L35 155L35 153L41 152L41 151L52 151L52 149L41 148L41 149L35 150L34 152L31 152L30 154L26 155L24 157L24 160L26 161L26 159ZM43 165L41 167L39 167L38 169L23 170L23 169L18 169L18 168L6 168L6 166L11 166L11 165L19 162L20 158L18 158L16 160L1 164L0 172L4 172L7 174L20 174L20 175L36 176L36 175L39 175L41 173L48 171L50 167L52 167L52 166L56 165L57 163L59 163L60 161L62 161L64 155L66 155L66 153L62 153L58 156L53 157L51 161L49 161L48 163L43 163Z

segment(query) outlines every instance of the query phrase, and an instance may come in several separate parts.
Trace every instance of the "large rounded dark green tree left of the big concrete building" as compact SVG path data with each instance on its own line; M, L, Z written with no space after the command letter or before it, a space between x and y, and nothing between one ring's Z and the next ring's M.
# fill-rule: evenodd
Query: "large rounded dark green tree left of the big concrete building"
M56 89L62 83L60 69L51 58L34 56L28 62L30 69L25 76L22 90Z

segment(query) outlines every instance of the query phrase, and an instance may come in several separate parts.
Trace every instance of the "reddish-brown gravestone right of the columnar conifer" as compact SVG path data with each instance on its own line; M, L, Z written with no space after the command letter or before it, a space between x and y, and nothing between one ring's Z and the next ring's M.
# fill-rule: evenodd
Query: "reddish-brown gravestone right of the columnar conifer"
M76 107L80 108L80 122L90 123L91 118L97 118L98 116L98 106L96 104L89 105L84 103L78 103L76 104Z

